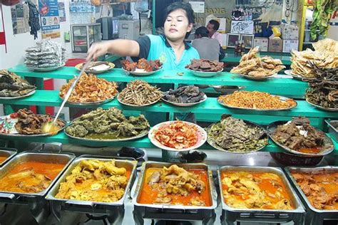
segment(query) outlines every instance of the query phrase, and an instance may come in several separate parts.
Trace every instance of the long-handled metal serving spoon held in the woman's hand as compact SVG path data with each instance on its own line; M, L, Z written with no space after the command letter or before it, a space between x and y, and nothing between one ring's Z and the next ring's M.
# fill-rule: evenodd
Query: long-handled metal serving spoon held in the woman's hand
M68 98L71 96L72 91L75 88L76 83L78 83L78 80L80 80L81 75L84 73L84 71L88 68L89 64L91 63L91 61L87 61L82 69L80 74L77 76L77 78L74 80L74 82L71 84L71 88L68 89L65 98L63 99L63 102L61 103L60 108L58 109L58 113L56 113L56 117L54 117L54 120L52 122L44 122L41 126L41 129L44 133L55 133L57 132L57 130L59 129L56 121L58 120L58 116L60 115L61 110L63 110L64 105L66 104Z

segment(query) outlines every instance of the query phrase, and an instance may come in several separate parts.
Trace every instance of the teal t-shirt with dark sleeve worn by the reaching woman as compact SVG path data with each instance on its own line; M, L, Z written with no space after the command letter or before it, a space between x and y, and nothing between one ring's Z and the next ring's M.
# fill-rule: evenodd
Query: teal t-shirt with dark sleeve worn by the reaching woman
M189 43L185 43L183 55L180 61L176 61L175 51L163 35L147 35L137 41L140 45L139 57L147 60L159 59L165 70L184 70L191 60L200 58L198 51Z

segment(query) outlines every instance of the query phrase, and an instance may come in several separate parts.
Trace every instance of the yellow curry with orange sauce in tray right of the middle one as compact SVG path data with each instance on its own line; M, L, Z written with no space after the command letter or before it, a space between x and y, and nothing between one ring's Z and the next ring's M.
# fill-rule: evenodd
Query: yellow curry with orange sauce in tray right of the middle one
M282 179L267 172L222 172L224 202L237 209L292 210Z

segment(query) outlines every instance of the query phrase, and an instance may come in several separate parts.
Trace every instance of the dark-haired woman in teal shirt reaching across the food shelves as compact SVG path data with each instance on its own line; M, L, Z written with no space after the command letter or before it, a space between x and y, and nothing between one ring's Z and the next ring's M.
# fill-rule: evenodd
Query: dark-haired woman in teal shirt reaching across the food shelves
M94 43L88 49L87 61L106 53L133 56L147 60L159 59L166 70L183 70L198 51L184 39L193 28L194 14L190 4L174 2L166 9L164 36L146 35L138 40L118 39Z

